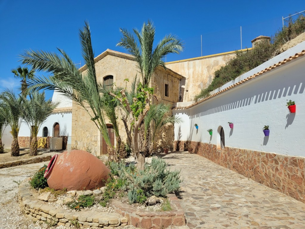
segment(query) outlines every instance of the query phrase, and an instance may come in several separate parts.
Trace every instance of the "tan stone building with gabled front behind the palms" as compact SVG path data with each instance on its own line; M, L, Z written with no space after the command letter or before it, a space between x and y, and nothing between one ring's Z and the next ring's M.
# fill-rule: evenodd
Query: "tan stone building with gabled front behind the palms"
M117 87L130 88L131 82L136 75L140 78L136 63L133 57L126 53L107 49L99 56L95 57L95 70L97 81L104 85L112 86L113 83ZM86 66L80 68L81 72L86 71ZM128 78L129 82L124 81ZM156 72L152 75L150 87L154 88L152 103L163 101L164 103L174 104L181 101L183 95L181 94L181 83L184 77L170 69L158 67ZM119 131L121 139L126 142L126 132L124 124L120 119L119 111ZM106 118L106 117L105 117ZM115 144L114 131L112 124L106 118L108 133L113 144ZM170 141L173 142L173 127ZM90 116L79 105L73 103L72 105L72 145L77 146L78 149L91 148L95 154L105 154L107 152L105 144L103 147L103 138L94 122L90 120Z

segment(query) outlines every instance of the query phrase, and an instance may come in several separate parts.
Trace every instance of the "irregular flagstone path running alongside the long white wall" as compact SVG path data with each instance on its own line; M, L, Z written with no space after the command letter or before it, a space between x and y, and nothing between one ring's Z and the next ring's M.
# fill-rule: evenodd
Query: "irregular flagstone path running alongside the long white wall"
M305 229L305 204L197 154L163 157L181 169L181 205L189 228Z

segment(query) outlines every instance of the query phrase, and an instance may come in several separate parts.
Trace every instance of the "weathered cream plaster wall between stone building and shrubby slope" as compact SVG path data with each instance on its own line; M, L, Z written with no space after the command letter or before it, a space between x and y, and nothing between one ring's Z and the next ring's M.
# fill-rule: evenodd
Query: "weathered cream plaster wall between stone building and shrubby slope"
M250 48L251 49L251 48ZM247 49L242 49L246 51ZM167 62L166 67L185 76L181 94L183 102L192 101L201 89L205 89L215 77L214 72L235 57L235 51Z

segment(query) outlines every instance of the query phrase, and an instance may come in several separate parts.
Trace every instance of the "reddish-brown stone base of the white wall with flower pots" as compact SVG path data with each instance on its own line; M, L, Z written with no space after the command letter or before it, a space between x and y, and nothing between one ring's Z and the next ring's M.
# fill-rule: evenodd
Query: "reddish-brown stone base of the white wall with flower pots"
M200 142L174 142L182 150L184 143L199 154L225 168L280 191L305 203L305 158L233 147L217 149Z

